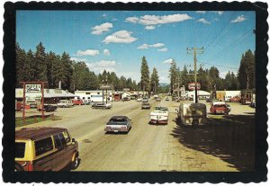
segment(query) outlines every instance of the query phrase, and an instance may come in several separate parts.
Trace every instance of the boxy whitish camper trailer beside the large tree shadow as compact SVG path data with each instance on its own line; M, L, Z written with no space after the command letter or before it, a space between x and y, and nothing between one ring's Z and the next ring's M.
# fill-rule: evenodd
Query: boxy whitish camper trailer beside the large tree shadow
M202 103L181 103L177 113L183 125L199 125L207 116L206 105Z

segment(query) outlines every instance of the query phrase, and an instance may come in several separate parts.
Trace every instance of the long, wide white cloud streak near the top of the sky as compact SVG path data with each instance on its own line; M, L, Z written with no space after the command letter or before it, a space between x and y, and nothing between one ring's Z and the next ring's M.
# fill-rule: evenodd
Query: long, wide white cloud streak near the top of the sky
M158 15L144 15L138 17L128 17L126 18L126 22L139 23L142 25L157 25L157 24L166 24L172 22L184 22L186 20L193 19L188 14L170 14L164 16Z

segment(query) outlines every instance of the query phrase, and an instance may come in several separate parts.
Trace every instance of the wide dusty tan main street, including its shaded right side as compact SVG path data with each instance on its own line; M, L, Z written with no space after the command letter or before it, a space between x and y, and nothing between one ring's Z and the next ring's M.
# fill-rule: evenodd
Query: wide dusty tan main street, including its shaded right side
M149 101L169 109L167 125L149 125L149 112L141 102L112 102L111 110L91 106L58 108L61 120L28 127L68 128L79 143L80 164L75 171L252 171L255 109L231 103L231 115L212 116L206 125L191 128L176 124L179 102ZM209 111L209 104L206 103ZM126 115L133 123L129 134L105 134L113 115ZM16 128L19 129L19 128Z

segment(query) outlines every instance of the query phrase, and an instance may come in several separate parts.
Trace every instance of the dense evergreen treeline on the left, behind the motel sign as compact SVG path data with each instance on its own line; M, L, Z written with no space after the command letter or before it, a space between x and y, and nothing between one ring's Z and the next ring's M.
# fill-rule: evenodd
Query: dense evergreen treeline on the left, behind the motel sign
M112 84L114 90L130 88L138 90L139 84L131 78L114 73L103 71L95 75L85 62L75 62L64 52L62 55L52 51L46 53L44 46L40 44L36 51L31 49L25 51L16 44L16 87L22 87L20 82L44 81L47 88L58 88L61 81L61 88L74 92L76 90L96 90L101 84Z

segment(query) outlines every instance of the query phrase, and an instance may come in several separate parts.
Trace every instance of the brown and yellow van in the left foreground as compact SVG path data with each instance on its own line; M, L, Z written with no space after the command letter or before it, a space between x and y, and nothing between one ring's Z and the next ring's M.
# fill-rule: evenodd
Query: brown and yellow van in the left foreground
M60 171L79 164L78 143L66 128L15 131L14 171Z

